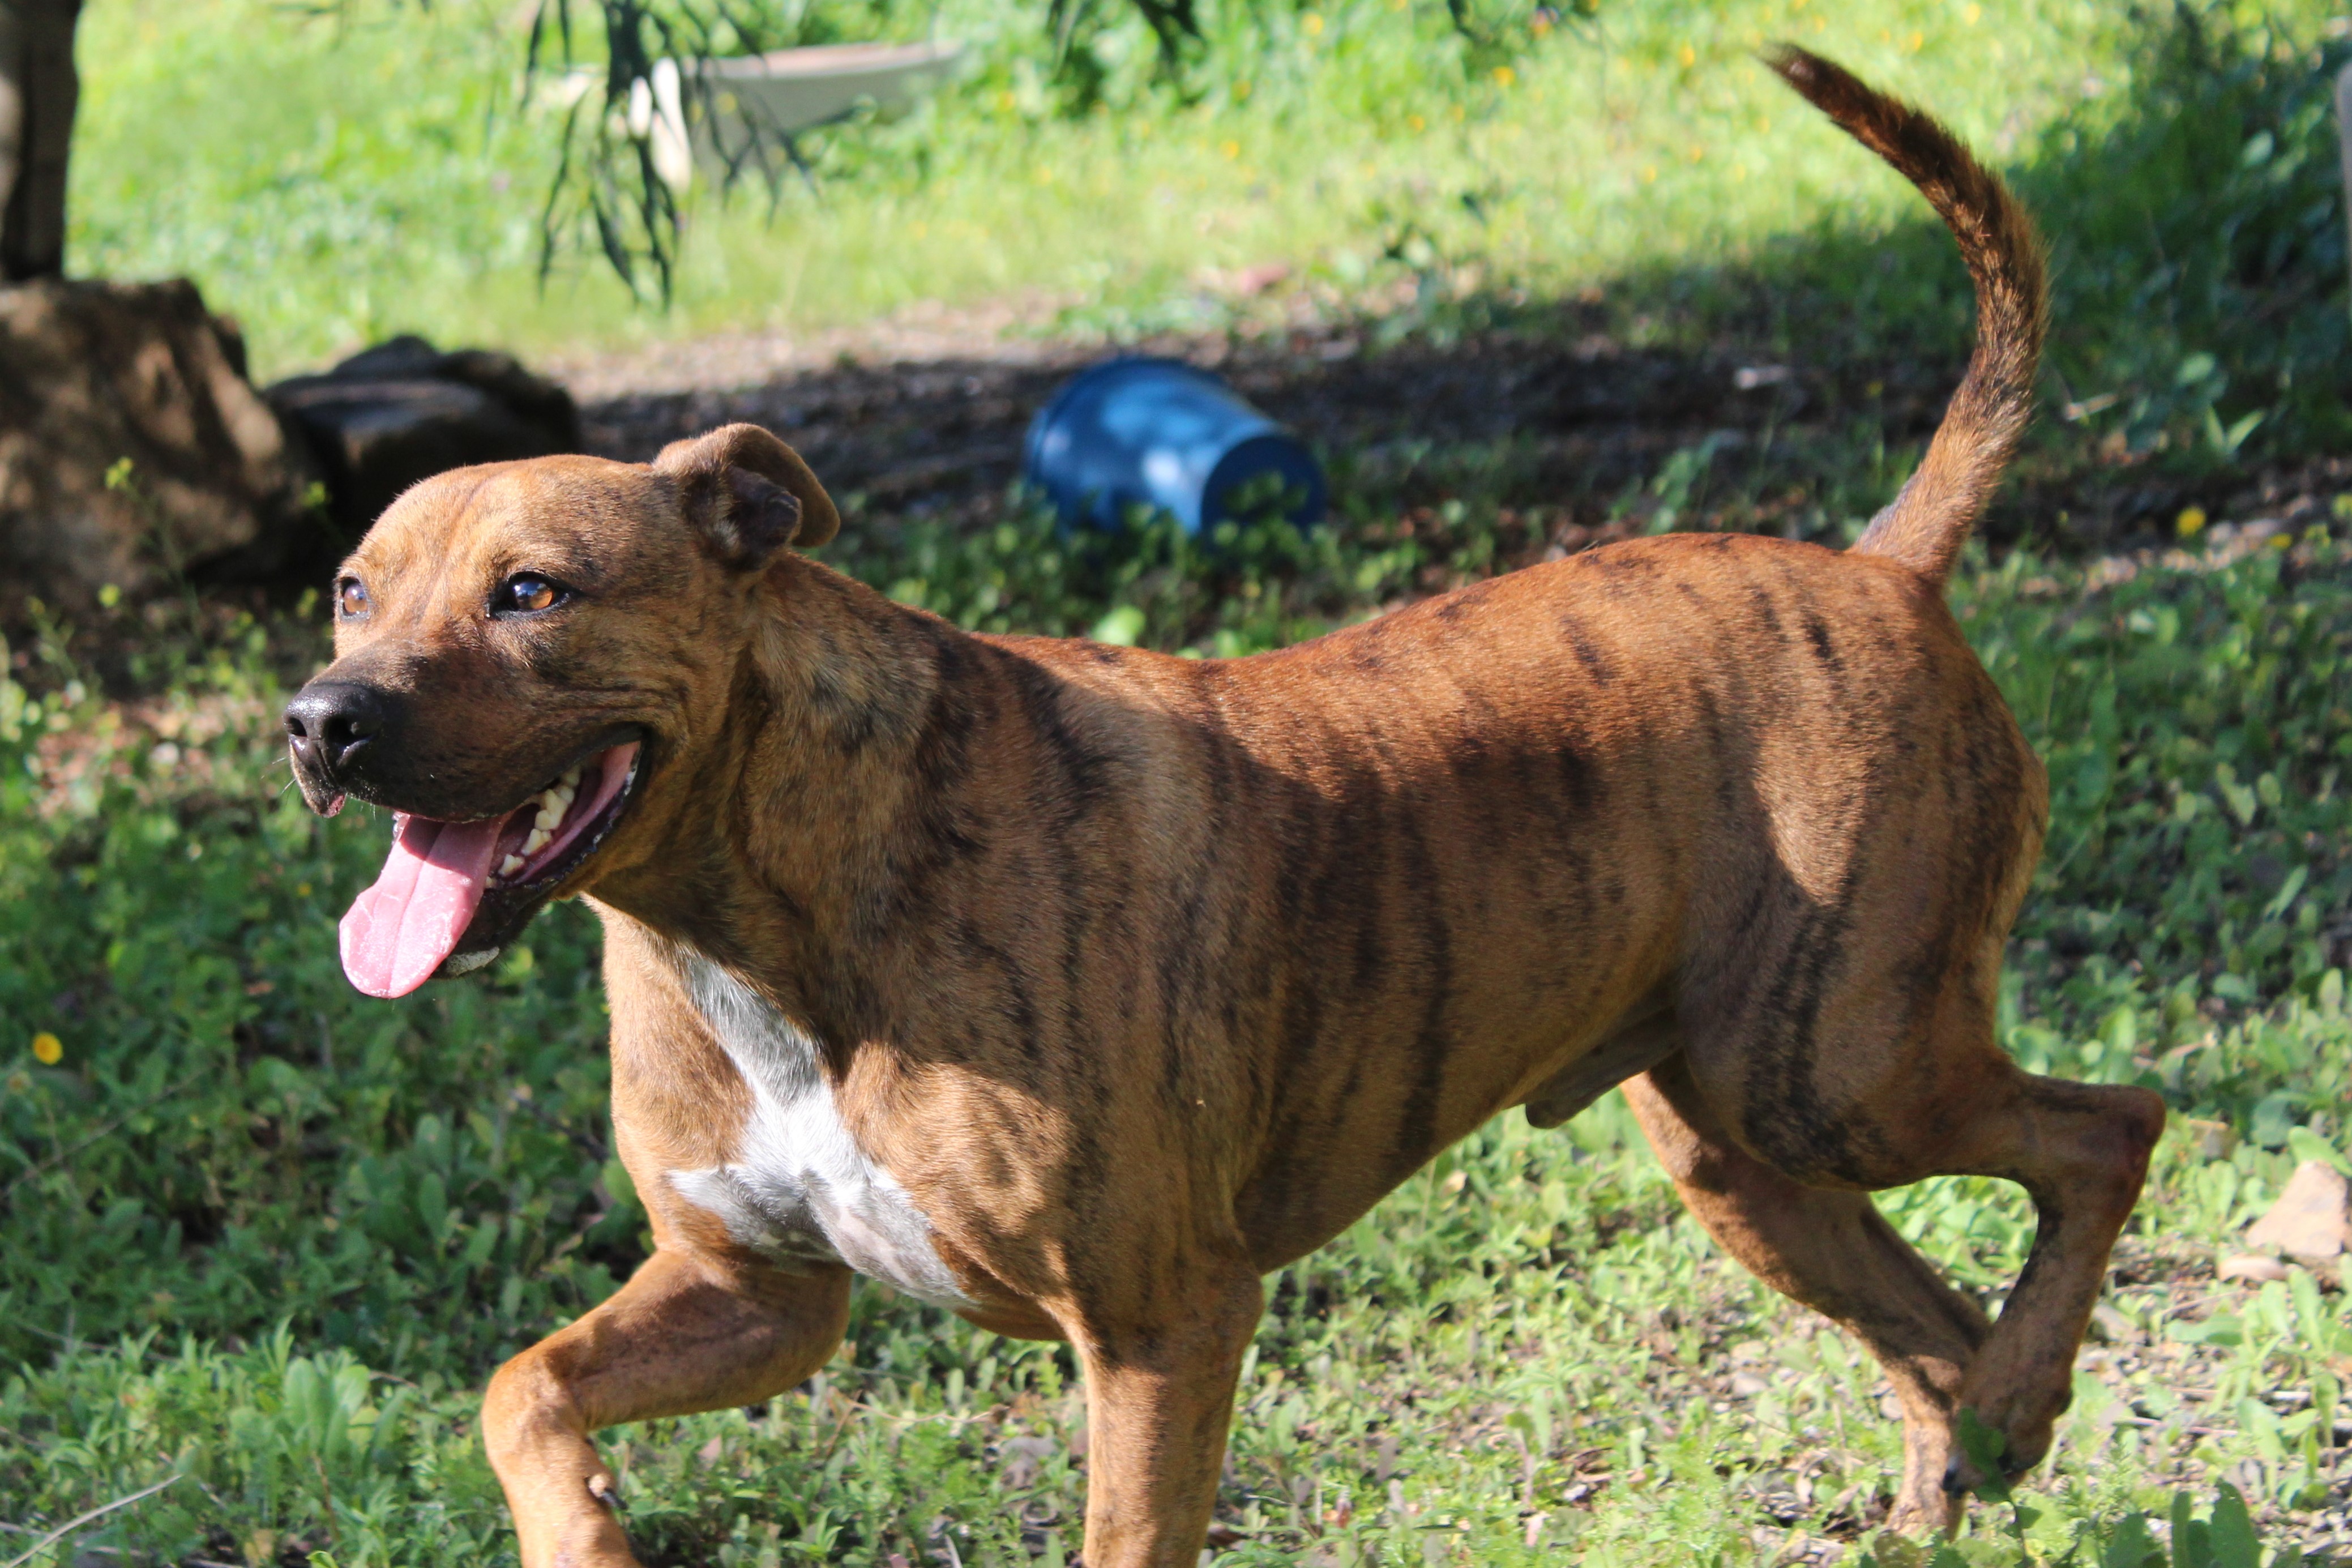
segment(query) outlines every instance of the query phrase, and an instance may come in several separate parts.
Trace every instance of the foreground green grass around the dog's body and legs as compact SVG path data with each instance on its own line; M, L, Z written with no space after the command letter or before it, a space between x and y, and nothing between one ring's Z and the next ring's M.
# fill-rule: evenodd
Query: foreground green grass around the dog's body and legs
M1033 512L976 538L851 512L833 557L969 625L1249 651L1477 576L1496 536L1463 510L1430 538L1261 529L1204 555ZM2159 1152L2105 1359L2030 1483L2037 1561L2089 1530L2107 1544L2074 1561L2138 1563L2117 1521L2161 1523L2178 1488L2227 1526L2223 1479L2272 1540L2307 1535L2352 1483L2352 1295L2209 1272L2298 1157L2345 1147L2352 552L2218 562L2112 581L2011 555L1955 595L2056 792L2004 1041L2241 1133L2206 1159L2176 1121ZM381 823L303 813L275 750L322 642L183 616L47 628L0 686L0 1521L181 1476L82 1540L499 1561L475 1389L644 1246L593 924L560 907L482 980L355 997L332 926ZM2032 1234L1994 1182L1886 1208L1978 1291ZM1501 1119L1268 1286L1228 1563L1769 1563L1889 1488L1875 1368L1715 1255L1613 1098L1562 1133ZM924 1561L941 1521L967 1563L1075 1552L1065 1349L866 1286L849 1340L757 1410L614 1434L649 1561ZM1964 1561L2018 1561L2016 1519L1980 1505Z

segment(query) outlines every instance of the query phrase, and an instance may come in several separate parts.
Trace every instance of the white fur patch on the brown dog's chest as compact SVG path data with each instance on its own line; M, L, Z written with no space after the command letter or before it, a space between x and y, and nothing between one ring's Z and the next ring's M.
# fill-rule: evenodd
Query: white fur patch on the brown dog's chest
M670 1171L670 1187L771 1258L837 1260L938 1307L976 1305L938 1260L931 1220L842 1126L807 1030L703 954L680 959L687 994L750 1086L753 1110L731 1161Z

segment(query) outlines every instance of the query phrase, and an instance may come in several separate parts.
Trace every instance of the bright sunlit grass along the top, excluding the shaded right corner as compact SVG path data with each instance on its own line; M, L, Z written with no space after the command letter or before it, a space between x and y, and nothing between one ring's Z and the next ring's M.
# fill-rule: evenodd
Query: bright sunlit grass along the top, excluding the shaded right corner
M1736 259L1830 212L1903 212L1891 176L1748 59L1771 33L1835 42L1985 136L2051 120L2084 61L2119 49L2089 2L1846 12L1611 9L1555 28L1505 87L1461 59L1442 7L1352 0L1312 12L1319 31L1291 16L1197 106L1068 120L1011 47L1018 21L950 7L943 33L997 42L985 68L906 125L821 136L823 190L788 188L774 219L757 193L706 200L680 306L656 315L600 263L536 296L553 125L496 113L522 49L513 7L395 24L360 5L336 26L270 0L115 0L85 21L73 266L195 275L263 364L402 327L569 348L1004 294L1150 315L1209 266L1352 284L1402 228L1512 287L1583 287ZM268 92L242 87L256 78Z

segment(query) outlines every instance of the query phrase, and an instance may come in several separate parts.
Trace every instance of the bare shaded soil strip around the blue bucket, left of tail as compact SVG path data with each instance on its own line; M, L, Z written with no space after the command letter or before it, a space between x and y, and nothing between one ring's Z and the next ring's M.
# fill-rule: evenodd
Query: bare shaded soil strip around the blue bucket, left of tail
M567 367L567 378L597 454L644 461L668 440L743 418L790 440L837 494L863 494L882 512L950 510L974 522L1004 505L1037 409L1075 371L1117 353L1218 371L1327 463L1352 465L1364 489L1392 491L1402 505L1451 496L1444 454L1508 449L1494 465L1494 501L1597 510L1677 447L1722 430L1752 440L1828 402L1828 388L1790 367L1625 348L1573 308L1456 341L1378 348L1374 336L1362 322L1301 322L1115 348L934 329L913 341L833 341L830 355L689 346ZM654 388L623 390L630 376ZM1940 411L1933 397L1929 386L1896 397L1896 430L1926 435Z

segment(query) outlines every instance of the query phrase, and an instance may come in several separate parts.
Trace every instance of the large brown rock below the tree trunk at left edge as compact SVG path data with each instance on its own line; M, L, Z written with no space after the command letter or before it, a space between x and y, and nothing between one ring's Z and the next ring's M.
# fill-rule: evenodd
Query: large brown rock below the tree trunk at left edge
M310 529L301 496L245 341L195 284L0 289L0 618L266 574Z

